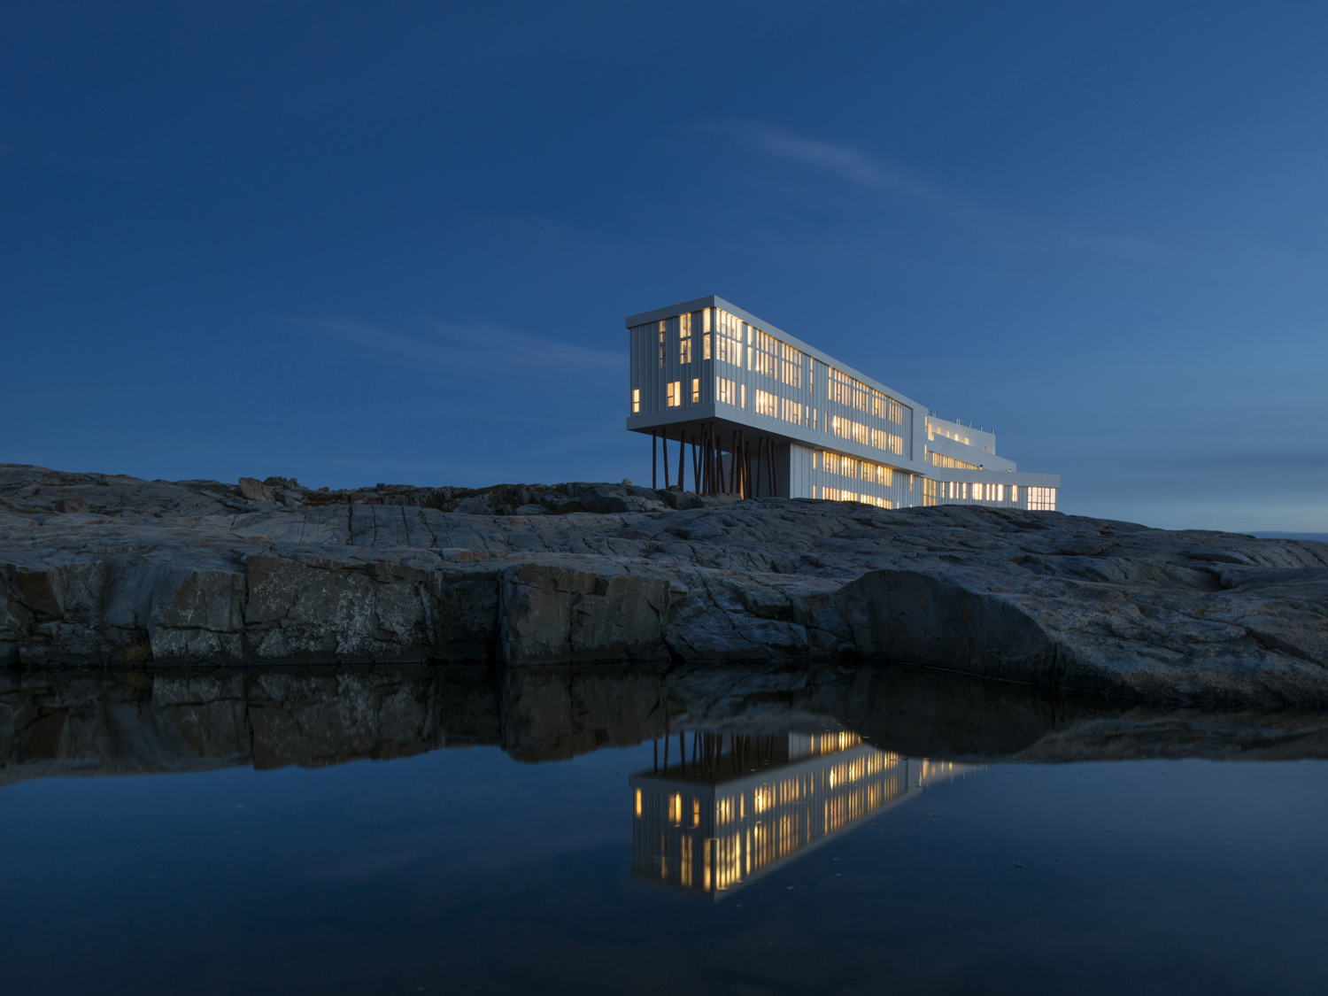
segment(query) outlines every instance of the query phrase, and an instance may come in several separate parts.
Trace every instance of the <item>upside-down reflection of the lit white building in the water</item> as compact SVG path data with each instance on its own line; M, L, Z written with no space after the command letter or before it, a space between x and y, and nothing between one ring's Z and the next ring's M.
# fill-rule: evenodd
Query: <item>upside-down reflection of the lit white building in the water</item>
M663 745L655 769L628 780L632 874L714 899L972 770L878 750L849 732L696 730Z

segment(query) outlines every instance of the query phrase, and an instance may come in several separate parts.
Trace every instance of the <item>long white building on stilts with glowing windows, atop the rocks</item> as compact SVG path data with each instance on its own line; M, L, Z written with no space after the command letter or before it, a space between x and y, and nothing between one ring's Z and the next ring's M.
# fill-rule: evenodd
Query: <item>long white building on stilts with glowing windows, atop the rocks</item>
M652 437L665 486L884 509L1056 509L1058 474L1020 473L996 456L993 433L936 418L722 297L632 315L627 328L627 428Z

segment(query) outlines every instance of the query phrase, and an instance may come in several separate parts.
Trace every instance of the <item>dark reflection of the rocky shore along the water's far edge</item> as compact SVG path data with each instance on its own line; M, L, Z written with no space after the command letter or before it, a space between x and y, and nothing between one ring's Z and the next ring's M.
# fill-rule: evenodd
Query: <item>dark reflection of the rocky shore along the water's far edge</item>
M521 761L665 730L851 730L912 757L1325 757L1321 713L1159 713L903 667L0 672L0 781L276 768L458 744Z

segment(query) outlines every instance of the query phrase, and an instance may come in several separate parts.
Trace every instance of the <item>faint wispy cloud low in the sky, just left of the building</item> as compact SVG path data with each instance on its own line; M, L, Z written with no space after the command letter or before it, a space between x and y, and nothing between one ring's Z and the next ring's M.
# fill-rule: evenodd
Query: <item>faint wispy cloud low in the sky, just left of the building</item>
M627 357L610 349L567 345L502 328L437 325L429 339L349 319L292 319L296 325L373 352L429 364L502 373L547 373L554 369L624 371Z

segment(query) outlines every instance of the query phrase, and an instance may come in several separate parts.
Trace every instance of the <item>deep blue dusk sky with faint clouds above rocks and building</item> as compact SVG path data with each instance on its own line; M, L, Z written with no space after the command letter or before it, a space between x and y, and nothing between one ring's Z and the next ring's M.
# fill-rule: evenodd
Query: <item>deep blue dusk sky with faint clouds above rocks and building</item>
M718 293L1065 511L1328 530L1328 5L9 3L0 459L649 474Z

